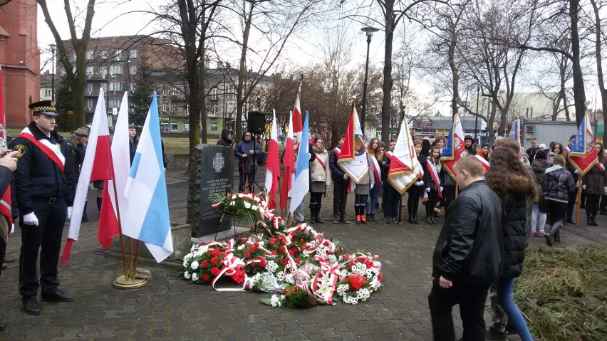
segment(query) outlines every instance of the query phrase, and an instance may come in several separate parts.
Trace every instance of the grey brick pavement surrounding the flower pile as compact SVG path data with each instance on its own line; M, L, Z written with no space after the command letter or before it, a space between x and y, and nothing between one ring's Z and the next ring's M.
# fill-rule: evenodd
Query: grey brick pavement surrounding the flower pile
M181 174L167 174L170 188L175 189L170 191L170 206L177 222L185 221L187 183ZM350 216L352 199L348 198ZM323 206L328 220L331 196ZM605 226L604 216L601 219ZM74 302L41 302L41 315L26 315L17 288L18 263L4 269L0 321L9 329L0 332L0 340L431 340L427 294L440 225L327 223L314 227L343 241L350 251L364 248L380 254L384 286L367 303L307 310L271 308L260 301L269 294L217 292L175 277L173 266L148 262L141 266L152 272L150 283L134 290L115 289L112 282L123 274L123 266L118 258L93 253L99 248L95 219L83 224L71 261L59 266L60 288L75 295ZM562 239L559 247L588 243L569 233ZM542 242L543 238L531 238L531 245ZM8 253L18 256L19 246L18 233L9 239ZM488 322L488 310L485 318ZM456 320L455 325L461 335L460 322Z

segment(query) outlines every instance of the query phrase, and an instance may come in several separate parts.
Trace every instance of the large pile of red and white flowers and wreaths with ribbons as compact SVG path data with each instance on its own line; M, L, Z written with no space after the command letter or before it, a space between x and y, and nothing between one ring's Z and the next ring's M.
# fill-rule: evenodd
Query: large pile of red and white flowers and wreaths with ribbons
M365 302L380 288L380 262L370 253L346 253L339 241L324 238L308 224L288 227L267 206L265 194L214 196L213 207L224 216L250 224L238 241L194 245L183 258L180 276L194 283L211 283L215 290L259 290L274 293L262 300L281 308L316 303ZM217 288L232 278L240 288Z

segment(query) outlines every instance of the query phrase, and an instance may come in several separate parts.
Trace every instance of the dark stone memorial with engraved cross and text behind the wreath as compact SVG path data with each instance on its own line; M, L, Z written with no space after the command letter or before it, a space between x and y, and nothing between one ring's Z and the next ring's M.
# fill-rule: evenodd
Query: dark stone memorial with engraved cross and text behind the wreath
M211 207L209 196L232 192L234 184L234 149L204 145L200 162L200 218L196 236L207 236L232 228L231 221L224 221L221 214ZM224 219L225 220L225 219Z

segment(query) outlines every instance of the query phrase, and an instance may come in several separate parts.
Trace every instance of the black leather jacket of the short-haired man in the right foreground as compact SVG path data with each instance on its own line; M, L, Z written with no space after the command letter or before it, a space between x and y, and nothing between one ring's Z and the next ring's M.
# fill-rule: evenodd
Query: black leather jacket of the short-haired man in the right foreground
M502 199L484 180L469 184L445 214L432 257L432 276L465 283L495 283L504 253Z

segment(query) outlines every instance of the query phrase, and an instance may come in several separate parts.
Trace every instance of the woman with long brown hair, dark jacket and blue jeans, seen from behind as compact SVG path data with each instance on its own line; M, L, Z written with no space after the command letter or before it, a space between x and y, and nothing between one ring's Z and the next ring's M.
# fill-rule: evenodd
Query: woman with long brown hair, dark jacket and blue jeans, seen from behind
M506 216L502 224L504 240L504 271L497 281L497 301L508 315L508 320L519 331L523 341L532 341L523 315L512 299L514 278L523 270L527 246L527 220L531 214L527 201L533 201L536 185L524 168L519 156L509 148L496 148L491 153L491 167L485 173L487 186L502 199Z

